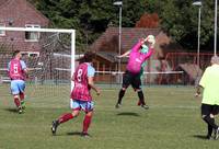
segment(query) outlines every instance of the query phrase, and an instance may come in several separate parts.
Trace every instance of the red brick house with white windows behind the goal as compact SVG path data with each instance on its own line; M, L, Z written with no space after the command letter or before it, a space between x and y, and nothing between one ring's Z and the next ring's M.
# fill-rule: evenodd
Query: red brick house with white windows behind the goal
M49 20L26 0L0 0L0 26L46 27ZM38 54L39 33L0 31L0 50L19 49L26 54Z

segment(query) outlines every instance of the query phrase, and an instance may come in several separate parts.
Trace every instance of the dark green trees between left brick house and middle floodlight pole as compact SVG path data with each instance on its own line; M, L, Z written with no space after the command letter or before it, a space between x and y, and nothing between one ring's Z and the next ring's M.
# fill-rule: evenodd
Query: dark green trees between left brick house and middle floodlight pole
M34 0L32 0L34 1ZM107 0L35 0L36 8L46 15L53 27L76 28L77 49L88 45L105 31L114 11Z

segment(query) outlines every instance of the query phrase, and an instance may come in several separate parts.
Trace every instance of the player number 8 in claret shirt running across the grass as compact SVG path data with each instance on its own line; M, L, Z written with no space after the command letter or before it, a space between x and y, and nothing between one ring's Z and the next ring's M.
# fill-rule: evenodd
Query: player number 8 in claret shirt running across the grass
M92 67L93 53L88 51L84 54L83 62L78 66L74 74L72 76L72 81L74 81L74 88L71 92L70 106L72 112L61 115L58 119L53 122L51 133L55 135L57 127L74 117L77 117L80 111L85 112L83 119L82 136L89 136L88 129L91 124L91 118L93 116L94 102L92 100L90 90L93 89L97 95L100 95L100 90L94 85L94 73L95 69Z

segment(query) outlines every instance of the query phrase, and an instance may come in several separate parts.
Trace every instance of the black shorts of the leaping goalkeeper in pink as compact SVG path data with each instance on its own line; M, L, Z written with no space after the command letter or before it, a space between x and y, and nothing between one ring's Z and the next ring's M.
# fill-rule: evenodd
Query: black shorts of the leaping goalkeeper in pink
M123 88L128 88L131 84L131 87L136 89L141 89L141 80L139 73L131 73L126 70L126 72L123 76Z

